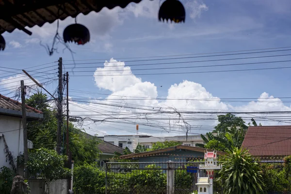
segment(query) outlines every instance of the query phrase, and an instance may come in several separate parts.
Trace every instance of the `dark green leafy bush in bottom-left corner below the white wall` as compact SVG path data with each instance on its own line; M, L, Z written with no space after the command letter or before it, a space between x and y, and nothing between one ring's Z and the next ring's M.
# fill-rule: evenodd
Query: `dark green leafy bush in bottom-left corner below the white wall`
M0 194L10 194L15 173L10 168L3 166L0 168Z

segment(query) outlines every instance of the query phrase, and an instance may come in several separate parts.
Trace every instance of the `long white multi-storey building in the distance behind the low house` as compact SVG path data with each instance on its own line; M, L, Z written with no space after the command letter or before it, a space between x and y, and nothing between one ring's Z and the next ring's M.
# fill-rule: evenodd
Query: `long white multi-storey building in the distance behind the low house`
M99 138L115 146L122 148L128 147L132 152L138 143L146 146L146 148L151 148L155 143L164 141L177 141L181 142L184 146L195 146L198 143L204 143L200 135L188 135L187 139L186 135L169 137L154 137L149 135L105 135Z

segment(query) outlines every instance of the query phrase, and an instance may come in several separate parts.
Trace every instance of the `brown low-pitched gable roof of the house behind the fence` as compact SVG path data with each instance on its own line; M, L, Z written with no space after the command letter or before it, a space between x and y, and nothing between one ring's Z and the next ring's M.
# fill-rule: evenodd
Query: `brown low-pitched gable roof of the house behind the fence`
M179 146L166 147L166 148L162 148L162 149L156 149L156 150L152 150L152 151L148 151L148 152L123 155L123 156L120 156L120 158L121 159L129 159L129 158L137 158L137 157L146 157L146 156L149 156L152 154L174 151L176 149L185 149L185 150L191 150L191 151L197 151L197 152L206 152L207 150L213 151L213 150L205 149L202 147L179 145ZM217 153L217 155L224 155L225 154L225 152L221 152L221 151L217 151L216 153Z

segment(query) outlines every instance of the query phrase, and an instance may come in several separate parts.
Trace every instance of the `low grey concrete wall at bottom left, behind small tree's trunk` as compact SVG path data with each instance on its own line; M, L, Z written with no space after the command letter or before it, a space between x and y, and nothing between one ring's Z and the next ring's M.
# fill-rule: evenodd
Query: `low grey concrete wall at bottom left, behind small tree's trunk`
M45 183L42 179L30 179L29 186L31 188L31 194L43 194L43 190L45 188ZM68 193L68 185L67 179L58 179L53 180L49 183L48 187L49 194L67 194Z

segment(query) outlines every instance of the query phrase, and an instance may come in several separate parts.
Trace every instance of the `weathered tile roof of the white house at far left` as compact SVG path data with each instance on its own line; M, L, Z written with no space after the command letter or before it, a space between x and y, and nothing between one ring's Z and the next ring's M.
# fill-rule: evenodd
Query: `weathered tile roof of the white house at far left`
M10 97L5 97L0 94L0 108L21 111L22 110L21 105L22 105L21 102L18 102L16 100L11 99ZM26 105L26 112L41 113L41 114L43 113L27 105Z

